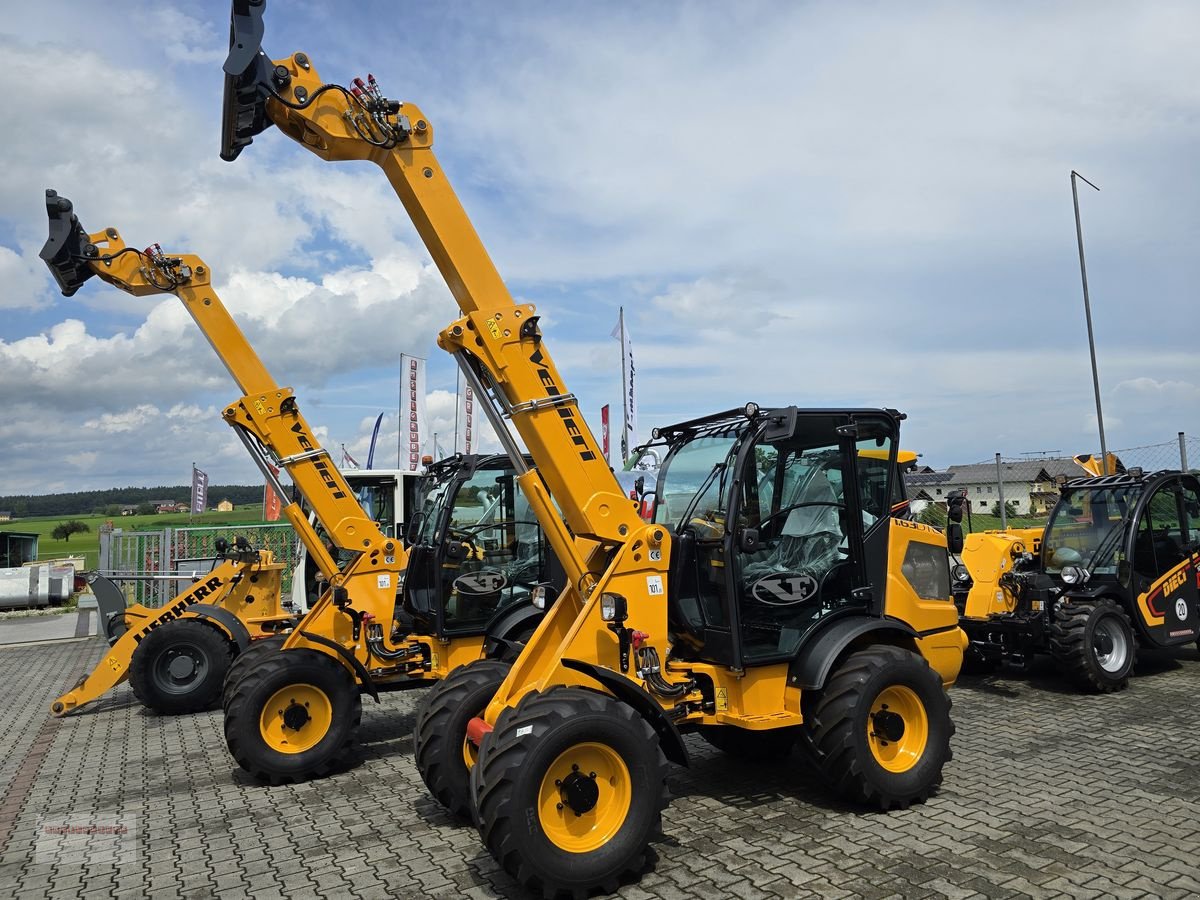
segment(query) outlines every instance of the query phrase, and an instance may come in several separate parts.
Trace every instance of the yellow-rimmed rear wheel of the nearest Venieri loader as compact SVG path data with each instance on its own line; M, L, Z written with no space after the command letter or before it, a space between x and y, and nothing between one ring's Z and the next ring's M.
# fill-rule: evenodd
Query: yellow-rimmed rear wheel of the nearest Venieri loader
M882 702L889 695L904 698L900 714ZM877 703L882 708L874 710ZM924 726L923 742L917 720ZM923 656L899 647L847 656L826 683L806 727L834 787L882 810L923 803L942 784L942 767L952 758L954 722L942 679ZM892 767L884 766L881 760L892 754L898 754Z

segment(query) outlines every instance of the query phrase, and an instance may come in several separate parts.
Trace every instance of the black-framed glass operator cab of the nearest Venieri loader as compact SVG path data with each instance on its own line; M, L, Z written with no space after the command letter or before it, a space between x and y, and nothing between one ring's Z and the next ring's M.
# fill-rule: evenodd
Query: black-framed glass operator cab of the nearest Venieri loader
M674 538L677 656L736 668L786 661L827 619L880 614L883 523L907 510L900 419L748 404L658 430L670 448L655 521ZM913 544L908 554L917 593L947 600L944 544Z

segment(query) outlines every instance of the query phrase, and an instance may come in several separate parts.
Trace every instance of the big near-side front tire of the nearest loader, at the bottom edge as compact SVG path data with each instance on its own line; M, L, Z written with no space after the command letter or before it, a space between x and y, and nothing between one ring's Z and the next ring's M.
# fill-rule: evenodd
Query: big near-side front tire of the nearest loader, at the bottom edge
M583 754L598 751L583 745L618 760L628 784L620 784L624 775L617 780L604 774L599 780L592 778L587 768L595 757L589 762ZM576 754L584 763L577 772L568 768ZM564 779L554 779L556 785L569 779L577 779L577 784L559 788L560 809L550 810L551 818L544 820L539 793L559 772ZM611 893L623 878L646 866L650 838L667 803L666 773L666 757L654 730L631 707L607 694L554 686L522 697L484 737L479 763L472 769L476 824L496 860L528 890L580 900L598 888ZM606 780L611 787L605 786ZM577 792L569 796L568 791ZM587 808L587 791L594 791L592 808ZM598 840L595 846L574 850L547 834L557 816L563 817L564 827L574 823L568 817L576 804L583 808L580 815L593 817L592 828L582 834L586 840ZM619 821L611 823L614 830L610 830L602 818L613 812Z

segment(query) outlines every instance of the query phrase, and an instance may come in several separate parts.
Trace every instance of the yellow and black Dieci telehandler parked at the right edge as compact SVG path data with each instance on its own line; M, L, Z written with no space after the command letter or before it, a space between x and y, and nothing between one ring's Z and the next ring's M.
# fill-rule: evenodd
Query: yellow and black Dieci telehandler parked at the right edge
M1045 529L970 535L954 590L973 666L1049 654L1079 688L1121 690L1139 644L1200 637L1200 480L1129 469L1068 481Z

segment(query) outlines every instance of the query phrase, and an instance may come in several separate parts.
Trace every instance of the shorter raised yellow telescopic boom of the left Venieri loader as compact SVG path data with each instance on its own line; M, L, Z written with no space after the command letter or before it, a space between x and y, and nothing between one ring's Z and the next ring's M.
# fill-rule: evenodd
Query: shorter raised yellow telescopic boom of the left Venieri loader
M362 676L364 662L350 648L366 643L378 655L403 653L388 647L380 624L388 624L390 631L400 574L407 562L403 546L364 515L353 490L300 414L293 390L271 378L212 289L204 260L191 254L169 256L157 244L136 250L126 246L115 228L89 234L71 202L54 191L46 192L46 206L50 234L42 259L64 295L71 296L95 275L134 296L178 296L245 392L224 408L226 424L276 493L288 496L276 474L286 469L334 546L354 554L340 571L301 505L292 500L283 506L284 517L330 584L284 647L320 644ZM362 680L373 690L370 678Z

